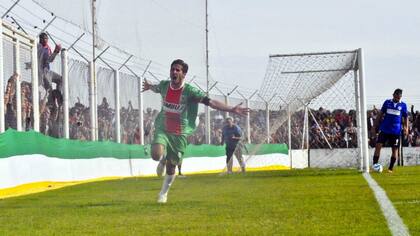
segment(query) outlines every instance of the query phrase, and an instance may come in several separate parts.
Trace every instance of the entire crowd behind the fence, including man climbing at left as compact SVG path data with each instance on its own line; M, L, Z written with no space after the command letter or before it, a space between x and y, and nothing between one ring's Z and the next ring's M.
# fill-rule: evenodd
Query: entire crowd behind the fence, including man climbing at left
M64 107L62 95L61 75L50 70L50 63L54 61L60 52L61 46L56 45L54 51L48 45L48 35L40 34L38 44L39 58L39 81L42 86L39 88L40 98L40 132L56 137L64 137ZM30 64L30 63L29 63ZM28 67L30 68L30 67ZM17 128L17 102L16 102L16 81L18 74L13 74L7 81L4 94L5 105L5 128ZM32 105L32 84L26 81L21 83L21 104L22 104L22 129L30 130L33 128L33 105ZM354 148L358 146L357 122L355 110L336 109L333 111L319 108L310 110L309 123L309 147L310 148ZM91 140L91 111L88 106L80 102L80 99L69 109L69 132L71 139ZM379 110L374 107L368 111L368 130L369 144L375 145L377 127L376 118ZM158 114L157 110L146 108L143 111L144 137L140 136L139 128L139 109L134 109L131 101L127 106L120 108L121 142L126 144L140 144L142 138L144 143L150 144L154 133L154 120ZM99 141L116 140L116 112L112 108L106 97L102 98L101 104L97 105L97 126ZM228 114L211 111L211 144L220 145L222 143L222 129L224 118ZM304 111L300 110L291 116L291 147L298 149L303 147L302 140L304 134ZM251 143L288 143L288 122L285 110L270 111L270 129L272 134L267 137L266 130L266 111L253 109L250 112L250 141ZM246 118L233 116L234 123L242 128L246 135ZM411 106L409 112L409 135L403 139L405 146L420 146L420 114L414 111ZM206 128L204 113L198 117L197 130L189 137L189 142L193 144L203 144L206 142Z

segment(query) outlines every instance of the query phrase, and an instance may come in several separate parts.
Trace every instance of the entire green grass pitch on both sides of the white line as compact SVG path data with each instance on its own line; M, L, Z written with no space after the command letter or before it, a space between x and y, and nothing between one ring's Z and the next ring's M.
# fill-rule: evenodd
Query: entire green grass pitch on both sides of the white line
M412 235L419 234L420 168L375 174ZM355 170L292 170L129 178L0 200L0 235L389 235Z

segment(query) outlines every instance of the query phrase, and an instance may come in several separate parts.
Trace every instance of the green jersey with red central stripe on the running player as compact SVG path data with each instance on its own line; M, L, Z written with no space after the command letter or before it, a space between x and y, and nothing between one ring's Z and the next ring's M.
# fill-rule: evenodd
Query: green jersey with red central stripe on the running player
M206 94L185 83L173 89L170 81L161 81L153 91L162 96L162 109L155 122L155 129L176 135L189 135L196 128L198 103Z

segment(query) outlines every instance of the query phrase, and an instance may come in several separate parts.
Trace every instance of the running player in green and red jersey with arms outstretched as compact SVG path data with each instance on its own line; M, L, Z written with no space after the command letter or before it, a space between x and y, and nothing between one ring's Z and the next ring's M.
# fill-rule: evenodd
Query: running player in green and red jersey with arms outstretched
M213 109L246 115L248 108L241 104L231 107L210 99L205 93L185 83L188 64L177 59L170 68L170 80L163 80L157 85L143 82L143 91L152 90L162 96L162 109L155 121L155 134L152 142L152 158L159 161L157 174L161 176L166 166L166 175L158 195L158 203L166 203L170 186L175 180L176 165L182 159L187 147L187 136L195 130L198 104L202 103Z

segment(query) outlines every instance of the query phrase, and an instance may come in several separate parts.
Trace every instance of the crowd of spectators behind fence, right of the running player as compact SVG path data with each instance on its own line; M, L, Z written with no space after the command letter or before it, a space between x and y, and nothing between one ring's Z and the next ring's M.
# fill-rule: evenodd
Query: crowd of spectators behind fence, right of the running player
M376 121L378 109L373 108L368 111L369 144L374 147L377 132L372 130L372 124ZM309 120L309 147L312 149L320 148L355 148L358 146L357 122L355 110L336 109L333 111L319 108L311 110L316 119L310 115ZM211 119L211 144L219 145L221 141L221 129L223 127L224 114L212 112ZM304 139L304 111L295 112L291 119L291 140L292 148L302 148ZM244 117L234 117L234 121L244 132L246 132L246 119ZM409 135L403 140L405 146L420 146L420 114L411 107L409 112ZM270 111L270 127L276 128L271 134L270 143L288 143L288 123L287 113L284 110ZM278 127L277 127L278 126ZM266 111L253 110L250 113L250 137L251 143L267 143L266 134ZM244 135L246 137L246 135ZM196 132L189 137L189 142L193 144L205 143L205 120L204 114L200 114ZM306 145L306 144L305 144ZM303 145L303 146L305 146Z

